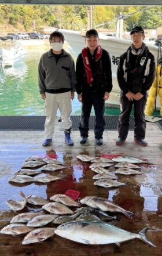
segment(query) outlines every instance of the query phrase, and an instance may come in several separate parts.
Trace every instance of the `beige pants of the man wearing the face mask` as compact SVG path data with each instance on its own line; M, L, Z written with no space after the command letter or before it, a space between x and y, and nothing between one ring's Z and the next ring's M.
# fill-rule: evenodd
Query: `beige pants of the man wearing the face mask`
M72 121L70 114L72 111L71 91L64 93L46 92L46 122L45 122L45 139L52 139L54 134L54 124L56 121L57 110L60 110L62 118L62 128L71 128Z

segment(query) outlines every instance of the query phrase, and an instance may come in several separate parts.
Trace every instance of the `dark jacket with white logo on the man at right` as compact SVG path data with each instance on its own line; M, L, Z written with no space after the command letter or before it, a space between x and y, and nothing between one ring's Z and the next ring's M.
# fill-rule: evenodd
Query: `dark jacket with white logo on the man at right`
M130 46L127 52L120 56L117 81L124 94L131 91L145 95L152 86L154 75L154 56L145 44L138 51Z

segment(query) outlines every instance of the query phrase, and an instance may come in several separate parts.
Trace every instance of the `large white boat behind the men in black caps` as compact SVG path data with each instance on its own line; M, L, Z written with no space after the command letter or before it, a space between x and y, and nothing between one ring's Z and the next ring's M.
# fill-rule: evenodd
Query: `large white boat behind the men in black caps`
M60 29L59 31L64 34L65 41L67 42L68 51L74 58L76 58L78 54L82 51L82 49L86 46L85 39L84 37L82 37L81 32L63 29ZM116 79L117 64L119 63L120 55L124 53L131 45L131 41L127 39L110 37L100 33L99 38L102 48L109 52L112 63L113 89L110 98L108 102L106 102L106 104L119 106L120 88L117 84ZM153 45L154 42L150 44L150 42L146 41L145 44L149 47L150 52L153 53L155 60L157 61L158 46ZM157 96L157 98L159 98L159 96ZM160 107L159 99L157 100L157 107Z

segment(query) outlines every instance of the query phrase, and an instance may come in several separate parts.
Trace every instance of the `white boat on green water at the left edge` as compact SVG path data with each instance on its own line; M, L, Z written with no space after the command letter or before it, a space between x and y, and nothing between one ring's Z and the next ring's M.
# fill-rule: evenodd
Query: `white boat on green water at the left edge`
M26 51L13 37L0 37L0 65L13 66L24 59Z

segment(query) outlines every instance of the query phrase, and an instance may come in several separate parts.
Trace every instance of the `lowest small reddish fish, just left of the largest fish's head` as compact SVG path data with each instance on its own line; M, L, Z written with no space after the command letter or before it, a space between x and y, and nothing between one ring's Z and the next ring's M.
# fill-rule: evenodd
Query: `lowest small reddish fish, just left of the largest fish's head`
M55 228L38 228L28 233L22 244L39 243L54 235Z

